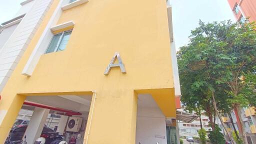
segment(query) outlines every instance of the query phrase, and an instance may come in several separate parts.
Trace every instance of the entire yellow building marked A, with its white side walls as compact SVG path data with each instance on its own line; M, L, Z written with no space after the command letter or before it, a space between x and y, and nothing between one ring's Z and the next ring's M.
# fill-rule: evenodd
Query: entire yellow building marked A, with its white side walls
M13 32L4 32L6 22L1 32L12 34L0 54L0 143L22 107L33 109L27 143L56 113L56 130L80 133L77 144L179 144L176 119L190 117L176 114L180 89L166 0L25 3L30 8Z

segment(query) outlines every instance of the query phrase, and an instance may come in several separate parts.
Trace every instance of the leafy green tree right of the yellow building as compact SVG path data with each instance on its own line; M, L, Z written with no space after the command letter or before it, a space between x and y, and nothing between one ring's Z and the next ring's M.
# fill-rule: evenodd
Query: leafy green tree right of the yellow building
M255 29L255 23L199 21L199 26L191 31L190 42L180 47L177 56L183 103L190 107L194 103L202 107L210 104L222 125L221 112L230 108L240 112L241 106L256 104ZM211 127L215 130L213 125L214 121ZM247 143L243 129L241 134Z

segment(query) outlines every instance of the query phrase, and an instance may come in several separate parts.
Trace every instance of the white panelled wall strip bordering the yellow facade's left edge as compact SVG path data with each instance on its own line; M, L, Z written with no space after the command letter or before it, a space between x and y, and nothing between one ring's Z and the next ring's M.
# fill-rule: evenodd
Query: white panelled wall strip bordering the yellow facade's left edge
M45 12L49 9L52 3L52 0L33 1L31 8L28 8L29 10L26 12L26 15L1 48L0 91L16 67L16 64L23 55L23 52L26 50L27 45L41 23Z

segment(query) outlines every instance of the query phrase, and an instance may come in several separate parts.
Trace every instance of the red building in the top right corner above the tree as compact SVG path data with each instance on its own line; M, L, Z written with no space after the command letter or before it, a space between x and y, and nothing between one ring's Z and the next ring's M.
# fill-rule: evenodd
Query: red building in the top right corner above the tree
M256 20L256 0L227 0L234 16L239 21L250 17L249 21Z

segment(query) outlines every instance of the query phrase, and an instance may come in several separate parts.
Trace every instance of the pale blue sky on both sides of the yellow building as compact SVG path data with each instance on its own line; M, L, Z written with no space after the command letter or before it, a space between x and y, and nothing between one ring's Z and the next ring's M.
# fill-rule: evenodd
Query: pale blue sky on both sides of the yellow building
M2 0L0 4L0 23L11 19L24 0ZM233 13L227 0L170 0L172 6L173 33L178 47L188 42L190 31L204 22L231 19Z

